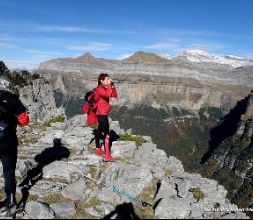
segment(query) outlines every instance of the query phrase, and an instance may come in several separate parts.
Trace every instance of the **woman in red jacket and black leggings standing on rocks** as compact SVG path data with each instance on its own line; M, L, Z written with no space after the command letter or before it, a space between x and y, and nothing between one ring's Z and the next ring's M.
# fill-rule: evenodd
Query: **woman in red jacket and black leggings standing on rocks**
M98 132L103 136L105 158L107 161L115 161L110 152L110 129L108 115L110 113L110 98L117 98L117 90L114 83L106 73L100 74L98 86L95 91L95 103L97 105L96 115L98 117ZM96 153L103 154L102 149L97 149Z

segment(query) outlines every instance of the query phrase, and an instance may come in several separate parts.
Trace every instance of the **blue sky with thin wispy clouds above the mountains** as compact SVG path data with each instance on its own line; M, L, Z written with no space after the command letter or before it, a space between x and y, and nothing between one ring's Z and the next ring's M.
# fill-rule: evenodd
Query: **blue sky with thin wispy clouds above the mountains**
M0 59L10 68L85 52L253 58L252 0L0 0L0 11Z

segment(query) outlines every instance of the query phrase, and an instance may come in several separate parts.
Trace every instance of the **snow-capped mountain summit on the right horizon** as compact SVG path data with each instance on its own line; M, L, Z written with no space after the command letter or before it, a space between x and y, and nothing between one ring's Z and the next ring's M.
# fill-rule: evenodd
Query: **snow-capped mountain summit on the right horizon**
M218 63L224 65L230 65L233 68L241 67L241 66L250 66L253 65L253 62L238 56L226 55L226 56L216 56L211 55L202 50L186 50L178 54L177 57L183 57L190 62L195 63Z

